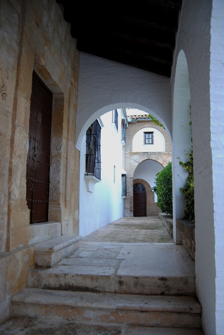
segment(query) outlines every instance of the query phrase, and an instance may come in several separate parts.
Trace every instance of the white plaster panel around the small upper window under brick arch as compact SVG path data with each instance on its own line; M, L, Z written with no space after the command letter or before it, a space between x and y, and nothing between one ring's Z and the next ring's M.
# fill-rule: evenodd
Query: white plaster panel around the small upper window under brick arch
M154 143L144 144L144 132L153 132ZM133 137L132 141L133 152L165 152L165 138L163 134L155 128L142 128Z

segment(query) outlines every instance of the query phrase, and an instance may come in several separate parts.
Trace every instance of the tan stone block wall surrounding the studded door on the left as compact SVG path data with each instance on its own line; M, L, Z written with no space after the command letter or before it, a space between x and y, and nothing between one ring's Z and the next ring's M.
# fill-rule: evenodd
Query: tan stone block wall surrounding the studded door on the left
M26 205L33 70L53 93L49 220L78 235L79 151L75 148L79 53L54 0L0 2L1 321L34 266ZM68 159L69 158L69 159ZM22 248L22 249L21 249ZM2 270L3 269L3 270ZM8 270L4 270L8 269ZM14 272L13 272L14 271ZM14 273L14 274L13 274Z

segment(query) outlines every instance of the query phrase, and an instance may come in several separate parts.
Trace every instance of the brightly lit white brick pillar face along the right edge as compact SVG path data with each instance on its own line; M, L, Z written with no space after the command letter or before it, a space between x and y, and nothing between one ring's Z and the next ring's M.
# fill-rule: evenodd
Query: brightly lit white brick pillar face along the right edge
M211 17L210 107L215 228L216 334L224 332L224 2L213 0Z

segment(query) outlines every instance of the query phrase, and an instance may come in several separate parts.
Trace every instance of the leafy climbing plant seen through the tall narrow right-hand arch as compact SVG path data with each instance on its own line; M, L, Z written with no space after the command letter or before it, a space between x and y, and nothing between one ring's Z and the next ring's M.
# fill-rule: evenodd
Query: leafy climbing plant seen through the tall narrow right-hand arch
M184 187L180 188L186 199L186 206L184 209L184 219L195 222L195 186L194 186L194 170L193 170L193 150L187 153L190 161L185 163L179 162L180 165L184 167L186 171L189 172L188 178L186 179L186 184Z

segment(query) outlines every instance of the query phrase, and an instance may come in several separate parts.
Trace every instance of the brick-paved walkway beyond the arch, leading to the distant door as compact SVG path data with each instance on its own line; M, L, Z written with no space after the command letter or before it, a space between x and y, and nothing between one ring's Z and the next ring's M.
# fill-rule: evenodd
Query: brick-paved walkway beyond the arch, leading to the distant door
M173 243L158 217L122 217L83 237L82 242Z

